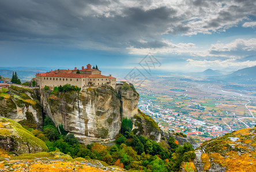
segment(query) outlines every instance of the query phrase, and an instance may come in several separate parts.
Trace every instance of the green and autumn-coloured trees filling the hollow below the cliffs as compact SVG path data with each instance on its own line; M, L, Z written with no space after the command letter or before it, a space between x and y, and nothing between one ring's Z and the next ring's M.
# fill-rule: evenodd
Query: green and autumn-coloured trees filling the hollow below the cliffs
M161 146L144 136L134 135L133 123L125 118L122 121L122 133L116 138L113 146L99 143L84 146L78 143L73 134L66 135L63 125L59 130L51 119L44 119L43 131L32 130L33 135L44 140L49 152L61 151L72 158L88 161L97 159L108 165L123 167L126 170L143 171L178 171L182 161L191 162L195 157L194 150L189 143L179 146L174 138L161 141ZM59 134L61 131L61 134ZM26 157L26 156L25 156Z

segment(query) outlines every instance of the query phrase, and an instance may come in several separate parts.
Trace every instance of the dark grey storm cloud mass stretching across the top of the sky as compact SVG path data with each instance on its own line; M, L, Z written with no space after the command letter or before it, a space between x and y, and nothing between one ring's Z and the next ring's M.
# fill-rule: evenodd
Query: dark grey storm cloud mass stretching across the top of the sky
M227 1L221 10L216 1L162 3L155 6L153 0L3 0L0 39L80 44L85 48L97 42L115 48L161 48L167 46L162 38L164 33L208 33L256 13L253 0ZM196 21L201 23L195 25Z

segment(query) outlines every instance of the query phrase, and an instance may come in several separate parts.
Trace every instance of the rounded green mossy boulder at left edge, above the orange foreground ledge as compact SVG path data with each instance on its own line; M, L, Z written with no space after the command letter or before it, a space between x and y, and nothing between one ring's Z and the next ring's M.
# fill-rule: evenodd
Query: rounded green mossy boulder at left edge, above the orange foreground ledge
M0 118L0 147L17 155L48 151L43 140L7 118Z

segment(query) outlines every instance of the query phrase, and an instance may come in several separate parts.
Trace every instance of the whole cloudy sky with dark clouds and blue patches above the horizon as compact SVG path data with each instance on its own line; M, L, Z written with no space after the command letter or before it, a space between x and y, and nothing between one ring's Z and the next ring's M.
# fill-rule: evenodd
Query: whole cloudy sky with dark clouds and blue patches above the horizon
M1 0L0 67L168 71L256 65L255 0Z

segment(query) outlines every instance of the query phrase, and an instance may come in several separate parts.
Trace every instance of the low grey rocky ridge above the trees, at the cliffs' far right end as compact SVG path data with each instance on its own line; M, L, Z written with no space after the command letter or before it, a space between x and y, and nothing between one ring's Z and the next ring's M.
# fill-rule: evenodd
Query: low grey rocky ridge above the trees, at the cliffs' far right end
M197 148L200 146L197 142L195 142L195 140L193 138L191 138L191 136L187 136L185 134L179 135L172 131L161 130L161 136L163 136L167 139L172 136L172 137L174 137L175 140L177 140L179 142L179 144L181 146L183 146L184 143L190 143L193 148Z

